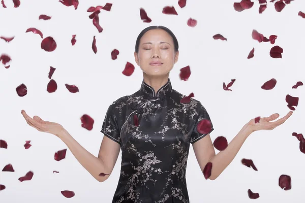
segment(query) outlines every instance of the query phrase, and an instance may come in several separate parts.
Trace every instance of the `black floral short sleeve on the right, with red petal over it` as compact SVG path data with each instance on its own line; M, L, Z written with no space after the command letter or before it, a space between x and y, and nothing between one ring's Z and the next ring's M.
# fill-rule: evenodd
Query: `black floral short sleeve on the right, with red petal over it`
M210 133L211 131L214 130L213 128L213 124L211 122L211 119L206 111L206 109L202 106L202 104L198 101L198 106L196 108L196 111L198 113L198 115L196 116L196 121L195 121L195 125L194 125L194 128L193 128L193 131L192 131L192 134L191 134L191 140L190 140L190 143L191 144L194 144L195 142L197 142L198 140L204 138L208 133ZM197 131L197 126L198 126L198 123L202 120L202 119L207 119L211 122L211 129L209 130L208 133L200 133Z

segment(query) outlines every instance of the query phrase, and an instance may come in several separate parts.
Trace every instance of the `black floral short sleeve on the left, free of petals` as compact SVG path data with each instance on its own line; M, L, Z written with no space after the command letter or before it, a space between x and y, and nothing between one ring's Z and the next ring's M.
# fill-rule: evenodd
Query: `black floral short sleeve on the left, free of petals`
M121 144L120 142L120 130L117 124L116 112L114 110L113 104L108 107L101 132L105 136L113 140L114 142Z

